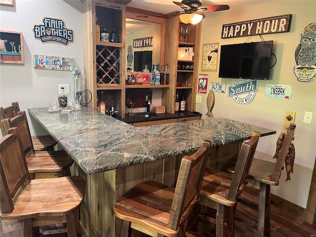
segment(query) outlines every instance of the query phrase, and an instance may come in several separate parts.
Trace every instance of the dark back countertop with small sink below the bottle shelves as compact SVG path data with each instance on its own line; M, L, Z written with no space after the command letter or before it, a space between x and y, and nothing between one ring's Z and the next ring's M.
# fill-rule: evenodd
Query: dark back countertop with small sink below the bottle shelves
M128 114L125 114L125 118L118 117L117 119L126 123L133 123L133 122L156 121L156 120L164 120L164 119L172 119L172 118L189 118L189 117L202 116L202 114L198 112L190 112L190 111L177 112L175 114L169 114L169 113L155 114L153 112L149 112L149 115L150 115L149 118L146 118L145 114L148 114L148 113L136 112L136 113L133 113L133 115L130 117L128 116Z

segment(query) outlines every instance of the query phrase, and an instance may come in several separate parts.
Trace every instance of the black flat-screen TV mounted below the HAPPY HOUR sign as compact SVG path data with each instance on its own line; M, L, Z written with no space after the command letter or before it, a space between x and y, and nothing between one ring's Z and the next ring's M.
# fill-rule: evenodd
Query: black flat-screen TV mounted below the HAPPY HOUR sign
M273 40L221 46L219 78L268 80Z

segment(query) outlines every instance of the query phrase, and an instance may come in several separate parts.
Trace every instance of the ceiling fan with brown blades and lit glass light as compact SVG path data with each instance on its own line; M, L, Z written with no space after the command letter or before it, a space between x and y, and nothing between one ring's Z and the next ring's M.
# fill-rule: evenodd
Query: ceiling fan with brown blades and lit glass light
M180 20L186 24L197 24L205 17L203 12L210 12L210 11L223 11L228 10L229 5L209 5L209 6L202 6L201 0L182 0L181 2L172 1L174 4L180 6L184 11L176 11L170 12L163 15L180 15Z

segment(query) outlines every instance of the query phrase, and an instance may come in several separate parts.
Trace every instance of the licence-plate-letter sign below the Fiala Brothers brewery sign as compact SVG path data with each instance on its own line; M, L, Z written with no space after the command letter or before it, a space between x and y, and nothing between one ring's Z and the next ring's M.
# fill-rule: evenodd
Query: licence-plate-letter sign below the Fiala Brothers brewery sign
M73 71L74 59L35 54L33 67L37 69Z

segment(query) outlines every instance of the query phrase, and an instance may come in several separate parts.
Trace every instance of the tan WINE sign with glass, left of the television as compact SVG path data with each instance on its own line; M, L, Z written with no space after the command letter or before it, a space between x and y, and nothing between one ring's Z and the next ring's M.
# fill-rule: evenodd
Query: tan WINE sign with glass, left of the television
M202 71L216 72L219 43L203 44Z

